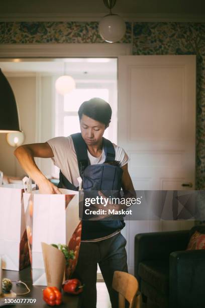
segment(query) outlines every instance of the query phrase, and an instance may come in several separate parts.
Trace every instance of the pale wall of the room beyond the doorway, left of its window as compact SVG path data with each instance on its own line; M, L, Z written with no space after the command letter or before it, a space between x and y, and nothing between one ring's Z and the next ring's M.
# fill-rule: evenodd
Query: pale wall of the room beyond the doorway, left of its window
M52 77L7 76L7 79L17 101L21 129L25 133L24 144L45 142L54 137ZM7 143L6 136L0 134L0 170L6 175L23 176L25 172L13 154L15 148ZM51 160L36 161L45 175L51 174Z

